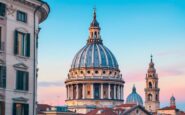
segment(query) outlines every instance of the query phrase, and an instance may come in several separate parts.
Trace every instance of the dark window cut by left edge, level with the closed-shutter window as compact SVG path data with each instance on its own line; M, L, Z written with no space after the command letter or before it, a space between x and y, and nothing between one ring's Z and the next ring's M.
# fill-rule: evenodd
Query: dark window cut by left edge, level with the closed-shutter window
M6 88L6 67L0 65L0 87Z

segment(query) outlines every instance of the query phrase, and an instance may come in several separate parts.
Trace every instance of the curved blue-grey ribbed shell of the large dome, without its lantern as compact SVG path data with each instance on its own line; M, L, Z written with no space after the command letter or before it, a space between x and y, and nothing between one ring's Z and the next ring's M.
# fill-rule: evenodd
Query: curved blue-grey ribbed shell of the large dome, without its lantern
M87 44L74 57L71 68L97 67L118 69L112 52L103 44Z

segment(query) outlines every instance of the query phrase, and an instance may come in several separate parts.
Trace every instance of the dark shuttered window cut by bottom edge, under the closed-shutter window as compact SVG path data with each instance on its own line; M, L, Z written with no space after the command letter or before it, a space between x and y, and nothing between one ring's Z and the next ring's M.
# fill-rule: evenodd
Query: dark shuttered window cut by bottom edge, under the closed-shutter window
M29 105L13 103L13 115L29 115Z

